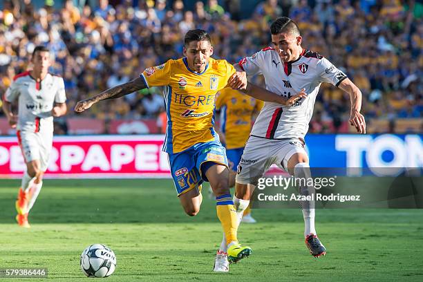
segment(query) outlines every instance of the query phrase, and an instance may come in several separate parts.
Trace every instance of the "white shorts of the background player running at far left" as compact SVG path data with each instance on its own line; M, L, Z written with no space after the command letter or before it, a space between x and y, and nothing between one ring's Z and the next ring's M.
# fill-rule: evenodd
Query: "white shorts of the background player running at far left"
M41 171L46 171L53 147L53 131L17 131L17 136L25 162L39 160Z

